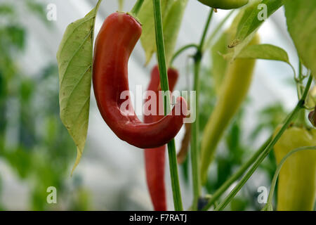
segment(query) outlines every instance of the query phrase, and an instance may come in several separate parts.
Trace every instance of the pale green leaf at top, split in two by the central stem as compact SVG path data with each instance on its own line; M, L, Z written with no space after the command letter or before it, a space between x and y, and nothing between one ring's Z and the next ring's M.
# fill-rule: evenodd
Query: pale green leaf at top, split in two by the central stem
M162 0L162 21L164 29L164 44L166 51L166 63L169 65L176 39L180 30L181 20L187 5L187 0ZM146 64L150 62L152 55L157 51L156 36L154 31L154 7L152 0L145 0L138 18L142 23L143 32L140 37L145 50Z

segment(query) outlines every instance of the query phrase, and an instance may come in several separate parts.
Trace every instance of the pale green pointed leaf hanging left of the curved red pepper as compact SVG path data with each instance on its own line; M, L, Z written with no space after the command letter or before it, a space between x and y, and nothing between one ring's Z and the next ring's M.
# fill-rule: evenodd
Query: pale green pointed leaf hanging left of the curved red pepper
M72 172L80 161L86 143L94 23L101 1L84 18L68 25L57 53L60 119L77 146L77 160Z

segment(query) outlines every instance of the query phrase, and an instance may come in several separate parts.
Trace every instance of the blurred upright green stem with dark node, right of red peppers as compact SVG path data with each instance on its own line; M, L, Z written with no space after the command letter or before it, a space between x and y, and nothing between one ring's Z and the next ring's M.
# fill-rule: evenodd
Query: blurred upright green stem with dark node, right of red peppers
M192 164L192 182L193 182L193 204L192 210L197 210L199 202L199 196L201 195L201 181L199 177L199 70L201 68L202 53L201 49L204 44L209 24L213 15L213 8L209 13L209 17L206 20L206 25L202 34L200 44L195 54L195 78L193 84L193 91L196 92L195 100L195 122L192 124L192 136L191 136L191 164Z

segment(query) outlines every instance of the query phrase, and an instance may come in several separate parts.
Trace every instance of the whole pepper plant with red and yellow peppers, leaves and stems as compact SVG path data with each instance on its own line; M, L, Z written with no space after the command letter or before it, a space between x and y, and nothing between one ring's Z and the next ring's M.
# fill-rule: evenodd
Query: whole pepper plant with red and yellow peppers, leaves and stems
M284 163L282 169L281 165L276 169L276 172L279 172L277 209L312 210L316 191L313 151L315 129L312 127L312 123L315 125L315 113L311 112L309 116L312 123L308 122L307 113L315 108L315 103L308 105L307 100L310 98L310 88L316 77L314 62L316 1L199 1L210 7L200 41L187 44L178 51L175 51L175 46L187 6L186 0L138 0L128 13L112 13L105 18L103 27L98 31L94 49L94 23L102 0L98 1L96 7L84 18L67 27L57 53L59 101L60 118L77 146L74 169L79 164L86 142L93 83L98 109L106 124L122 141L141 149L145 148L147 184L154 209L166 210L162 167L164 167L164 146L167 145L174 210L187 210L183 208L182 203L176 155L178 146L173 138L183 126L186 117L194 115L195 121L186 126L184 150L181 148L181 158L183 158L187 153L185 149L189 148L188 143L190 143L188 151L190 160L186 163L190 163L191 168L193 201L189 210L224 210L261 166L263 160L272 154L273 148L276 155L275 164ZM195 3L200 4L199 1ZM258 35L258 29L265 20L281 8L285 10L287 28L298 53L300 62L298 70L291 64L287 51L279 46L261 43ZM232 11L222 23L217 25L214 32L209 34L211 19L222 13L221 9ZM224 30L223 25L233 15L235 18L230 28ZM260 15L264 15L264 18ZM147 63L154 53L157 55L158 66L154 68L156 77L152 77L154 80L151 81L155 83L150 83L149 88L153 88L152 91L156 92L169 91L169 87L173 89L175 83L168 76L167 71L176 71L173 63L178 60L177 57L187 49L195 49L190 73L193 80L190 89L195 91L195 98L185 99L184 96L180 96L175 104L171 104L172 96L166 94L163 101L154 104L154 107L158 106L157 108L163 106L162 115L152 119L145 117L145 122L136 116L129 94L127 65L138 39L145 51ZM200 96L204 91L201 89L203 85L201 71L204 67L202 59L207 53L211 53L212 63L209 71L214 83L211 91L216 95L216 99L210 112L205 114L200 110ZM209 168L216 156L218 143L222 141L225 131L228 129L236 131L232 123L236 122L236 116L248 95L256 60L277 60L289 65L296 83L297 104L289 115L277 121L279 127L276 131L271 131L270 137L262 143L261 148L256 150L254 155L246 161L242 160L235 173L226 177L216 190L207 193L211 190L208 187L212 186L210 184L212 174ZM120 96L124 91L127 92L122 99ZM209 101L213 101L212 96L209 96ZM191 103L194 103L193 108L190 107ZM176 114L177 110L178 114ZM157 109L153 111L157 112ZM200 129L199 120L203 117L206 123L203 129ZM232 138L235 136L237 134L233 133ZM230 147L234 148L233 145ZM293 157L287 155L291 150L295 151ZM303 150L306 151L303 153ZM305 165L306 163L308 166ZM302 170L303 176L301 176ZM274 183L272 182L274 185L275 177L277 176L274 176ZM235 182L237 184L225 195ZM269 203L264 210L273 209L271 203L273 188L274 186L271 188ZM301 190L300 193L297 190ZM291 193L290 197L282 194L282 191Z

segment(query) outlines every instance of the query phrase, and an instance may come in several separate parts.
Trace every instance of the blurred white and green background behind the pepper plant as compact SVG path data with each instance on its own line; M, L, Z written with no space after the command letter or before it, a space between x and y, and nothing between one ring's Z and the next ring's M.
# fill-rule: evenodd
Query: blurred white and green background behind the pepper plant
M103 121L91 91L88 138L81 162L71 177L76 147L59 118L58 68L55 59L68 24L84 17L96 0L0 0L0 210L152 210L145 183L143 151L119 140ZM48 20L51 4L56 20ZM130 11L134 1L124 1ZM117 11L117 0L100 6L96 32L103 20ZM197 43L209 8L189 0L177 47ZM227 11L213 15L209 32ZM232 19L232 18L231 18ZM225 27L230 25L230 21ZM259 30L261 41L289 53L298 65L294 45L280 9ZM192 86L193 51L175 63L180 71L176 89ZM145 67L145 53L137 44L129 61L130 89L147 87L155 58ZM206 56L201 75L201 130L216 102ZM285 63L258 60L249 98L225 132L216 162L211 165L205 193L213 193L247 160L296 103L291 68ZM184 130L176 137L179 148ZM180 165L180 186L185 209L192 203L190 164ZM258 188L270 188L275 171L273 153L242 188L227 210L260 210ZM57 204L48 204L46 189L55 186ZM169 210L173 200L166 163Z

